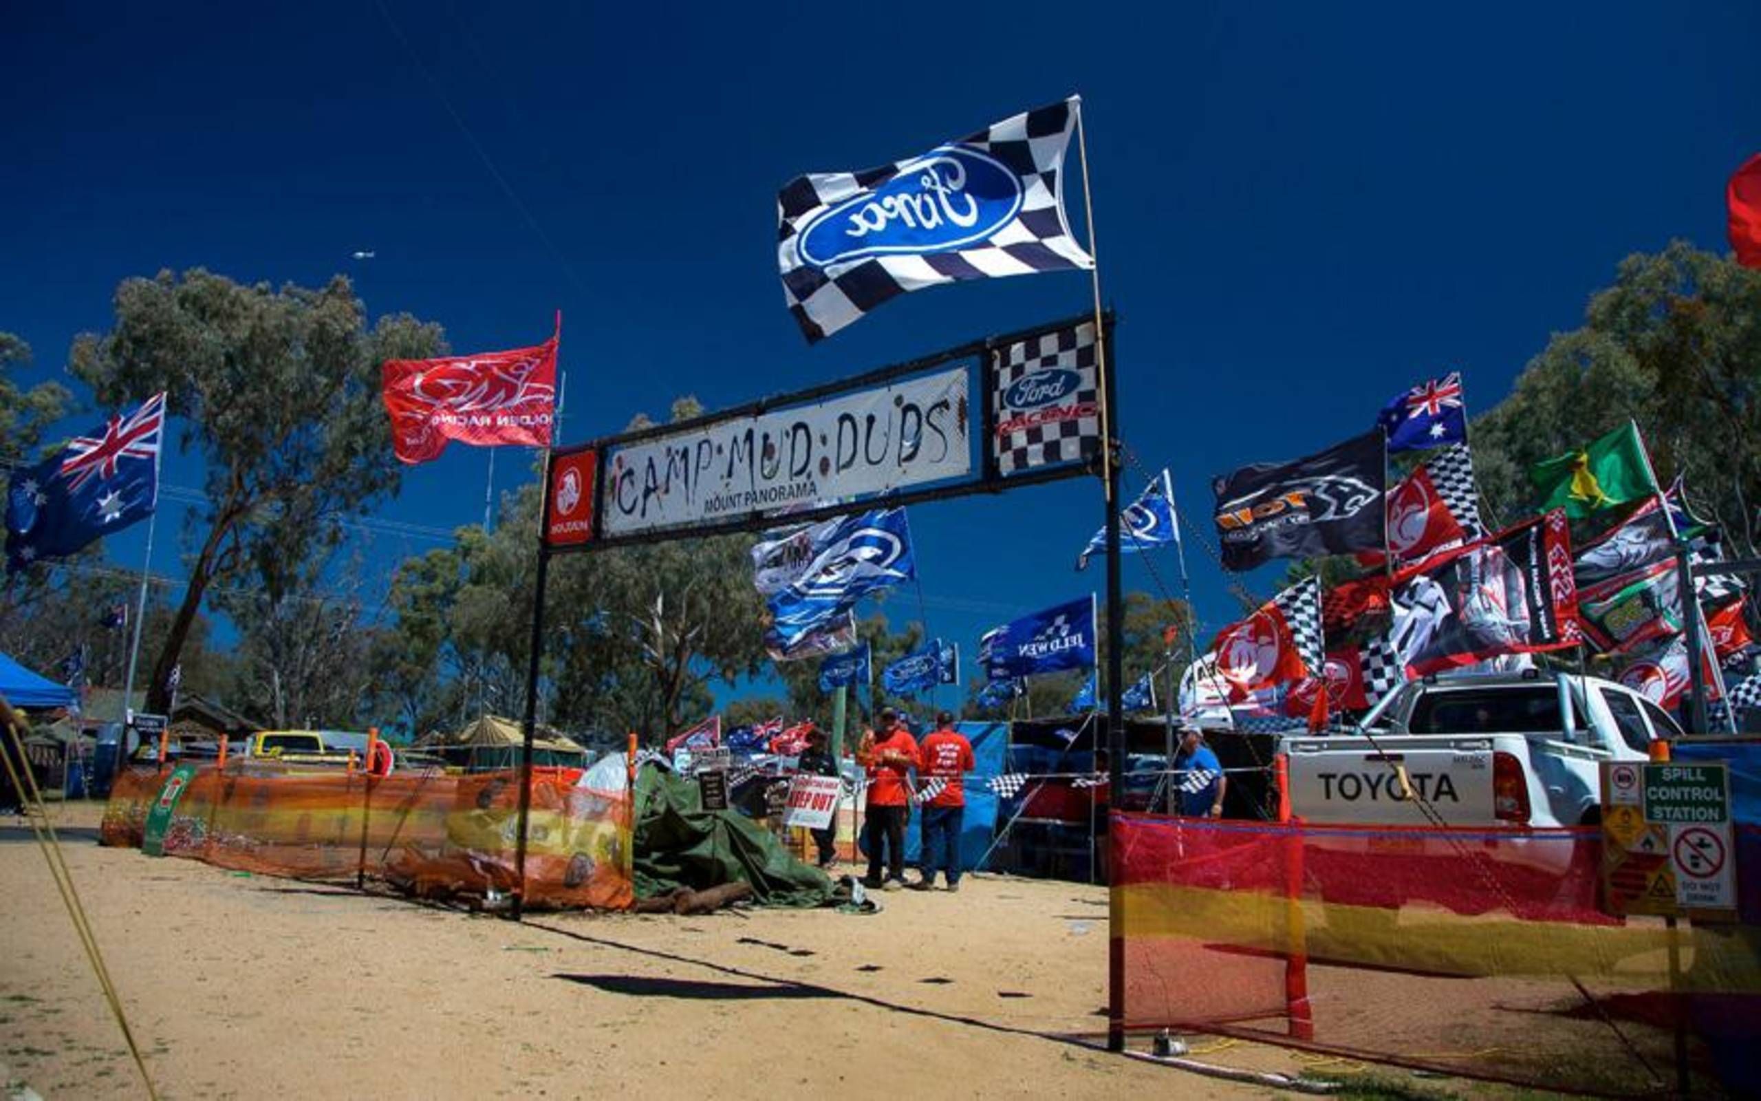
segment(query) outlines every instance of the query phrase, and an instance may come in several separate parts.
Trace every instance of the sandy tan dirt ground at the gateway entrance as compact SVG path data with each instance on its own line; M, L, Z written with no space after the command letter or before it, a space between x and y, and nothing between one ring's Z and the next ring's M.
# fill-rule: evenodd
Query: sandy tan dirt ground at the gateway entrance
M92 807L58 821L166 1097L1271 1092L1095 1050L1102 888L977 876L873 916L514 925L100 849ZM44 1097L143 1096L19 819L0 821L0 1062Z

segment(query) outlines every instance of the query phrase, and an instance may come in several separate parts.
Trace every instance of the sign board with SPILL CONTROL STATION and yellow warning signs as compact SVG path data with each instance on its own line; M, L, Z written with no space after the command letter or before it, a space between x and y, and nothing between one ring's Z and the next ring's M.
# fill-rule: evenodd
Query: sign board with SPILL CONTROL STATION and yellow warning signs
M1603 765L1603 884L1617 914L1735 920L1724 765Z

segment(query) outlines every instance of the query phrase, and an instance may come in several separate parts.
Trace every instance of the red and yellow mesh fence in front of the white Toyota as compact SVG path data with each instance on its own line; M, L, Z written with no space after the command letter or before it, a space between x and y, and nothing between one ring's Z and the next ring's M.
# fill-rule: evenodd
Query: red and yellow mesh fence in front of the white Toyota
M1618 920L1595 830L1111 819L1125 1027L1553 1089L1696 1090L1761 1034L1761 930ZM1676 967L1671 969L1671 953Z

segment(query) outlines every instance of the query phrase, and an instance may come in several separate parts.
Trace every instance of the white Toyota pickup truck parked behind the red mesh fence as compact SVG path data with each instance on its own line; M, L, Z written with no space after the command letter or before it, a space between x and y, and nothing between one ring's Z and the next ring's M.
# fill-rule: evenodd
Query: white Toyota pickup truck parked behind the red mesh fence
M1293 816L1437 824L1428 807L1449 826L1595 824L1601 763L1643 761L1682 733L1645 696L1574 673L1416 680L1361 726L1284 738Z

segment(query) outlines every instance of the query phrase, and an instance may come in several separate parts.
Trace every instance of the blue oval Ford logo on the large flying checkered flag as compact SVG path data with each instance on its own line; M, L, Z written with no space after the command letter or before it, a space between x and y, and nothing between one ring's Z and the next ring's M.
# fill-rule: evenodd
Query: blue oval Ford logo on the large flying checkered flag
M822 210L796 247L817 268L947 252L983 241L1020 211L1020 176L977 150L942 146L903 164L880 187Z

